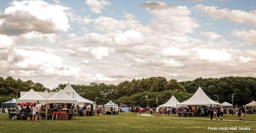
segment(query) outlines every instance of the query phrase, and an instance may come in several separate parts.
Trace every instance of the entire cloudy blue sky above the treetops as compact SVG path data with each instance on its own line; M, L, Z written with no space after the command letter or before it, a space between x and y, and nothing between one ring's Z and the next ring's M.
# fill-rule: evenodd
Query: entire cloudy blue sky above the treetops
M58 84L256 77L254 0L0 0L0 75Z

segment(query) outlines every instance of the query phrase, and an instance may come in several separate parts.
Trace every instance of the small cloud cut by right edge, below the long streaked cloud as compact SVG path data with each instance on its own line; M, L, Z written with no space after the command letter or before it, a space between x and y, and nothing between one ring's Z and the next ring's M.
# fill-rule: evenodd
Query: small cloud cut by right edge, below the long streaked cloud
M256 30L233 30L232 36L256 44Z

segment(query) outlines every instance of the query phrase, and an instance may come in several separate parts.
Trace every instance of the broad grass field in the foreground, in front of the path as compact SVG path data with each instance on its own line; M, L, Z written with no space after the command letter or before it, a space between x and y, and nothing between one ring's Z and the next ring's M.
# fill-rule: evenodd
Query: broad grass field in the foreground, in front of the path
M9 120L0 115L0 132L216 132L208 127L250 127L251 130L218 130L217 132L256 132L256 122L217 121L168 117L143 117L133 113L78 117L77 120Z

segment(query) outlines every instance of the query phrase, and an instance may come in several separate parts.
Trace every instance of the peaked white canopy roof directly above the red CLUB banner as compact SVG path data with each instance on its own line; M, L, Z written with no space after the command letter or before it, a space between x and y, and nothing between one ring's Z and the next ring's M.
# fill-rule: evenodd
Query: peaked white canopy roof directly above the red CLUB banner
M53 97L49 98L48 103L74 103L77 104L77 100L71 98L62 89L60 89Z

